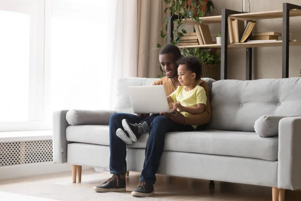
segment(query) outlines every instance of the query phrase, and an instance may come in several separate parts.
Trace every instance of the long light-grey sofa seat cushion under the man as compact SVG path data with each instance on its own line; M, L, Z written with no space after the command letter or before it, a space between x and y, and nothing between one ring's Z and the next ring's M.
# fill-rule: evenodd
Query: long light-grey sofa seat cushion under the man
M101 125L69 126L67 140L109 146L109 128ZM148 134L144 133L131 148L145 148ZM278 138L261 138L254 132L206 130L166 134L165 151L192 152L258 158L275 161Z

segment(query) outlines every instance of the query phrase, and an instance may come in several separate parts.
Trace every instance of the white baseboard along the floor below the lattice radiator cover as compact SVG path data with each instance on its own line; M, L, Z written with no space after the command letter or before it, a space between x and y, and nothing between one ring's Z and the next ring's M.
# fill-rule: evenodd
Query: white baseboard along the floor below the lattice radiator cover
M82 169L91 167L83 166ZM49 174L55 172L71 171L71 165L68 163L55 164L53 162L32 163L26 165L12 165L0 167L0 179L16 178L23 176L32 176L39 174ZM70 174L71 176L71 174Z

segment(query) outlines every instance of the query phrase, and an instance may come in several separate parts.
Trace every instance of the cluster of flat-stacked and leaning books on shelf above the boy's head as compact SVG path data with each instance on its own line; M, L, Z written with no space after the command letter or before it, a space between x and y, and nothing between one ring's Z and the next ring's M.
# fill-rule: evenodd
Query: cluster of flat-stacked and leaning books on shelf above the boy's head
M211 33L208 25L197 24L194 25L196 33L183 34L179 46L191 45L207 45L213 44Z

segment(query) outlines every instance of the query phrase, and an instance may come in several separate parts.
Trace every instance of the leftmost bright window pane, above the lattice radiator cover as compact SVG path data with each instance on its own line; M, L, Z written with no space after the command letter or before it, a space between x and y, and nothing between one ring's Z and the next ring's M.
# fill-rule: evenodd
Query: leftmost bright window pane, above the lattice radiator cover
M44 3L0 0L0 131L46 128Z

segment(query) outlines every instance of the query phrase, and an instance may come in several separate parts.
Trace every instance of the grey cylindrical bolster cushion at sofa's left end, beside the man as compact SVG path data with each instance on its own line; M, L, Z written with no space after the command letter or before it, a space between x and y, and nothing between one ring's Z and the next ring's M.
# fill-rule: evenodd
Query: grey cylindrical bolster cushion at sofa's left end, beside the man
M116 111L70 110L66 114L69 125L109 125L110 116Z

